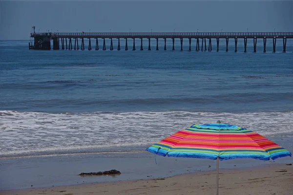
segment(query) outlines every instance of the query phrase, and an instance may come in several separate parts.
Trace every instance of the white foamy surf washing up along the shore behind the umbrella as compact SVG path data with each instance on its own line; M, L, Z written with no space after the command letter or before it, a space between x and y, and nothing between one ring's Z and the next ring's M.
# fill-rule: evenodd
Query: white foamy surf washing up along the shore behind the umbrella
M293 135L293 112L38 113L0 111L0 156L153 144L194 123L235 124L264 136Z

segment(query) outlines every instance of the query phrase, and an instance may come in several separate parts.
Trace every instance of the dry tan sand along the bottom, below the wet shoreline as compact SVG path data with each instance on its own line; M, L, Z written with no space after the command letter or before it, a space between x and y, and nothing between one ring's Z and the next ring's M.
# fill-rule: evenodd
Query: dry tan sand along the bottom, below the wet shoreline
M0 195L215 195L215 173L0 191ZM293 165L220 170L219 195L293 195Z

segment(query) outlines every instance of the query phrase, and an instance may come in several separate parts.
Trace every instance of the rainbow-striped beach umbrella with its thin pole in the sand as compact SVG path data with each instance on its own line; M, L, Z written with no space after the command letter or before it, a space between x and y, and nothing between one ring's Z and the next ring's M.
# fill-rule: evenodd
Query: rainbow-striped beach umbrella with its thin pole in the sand
M255 158L260 160L292 156L292 154L251 130L225 123L194 124L187 129L148 147L146 151L175 157L217 160L216 195L218 195L219 160Z

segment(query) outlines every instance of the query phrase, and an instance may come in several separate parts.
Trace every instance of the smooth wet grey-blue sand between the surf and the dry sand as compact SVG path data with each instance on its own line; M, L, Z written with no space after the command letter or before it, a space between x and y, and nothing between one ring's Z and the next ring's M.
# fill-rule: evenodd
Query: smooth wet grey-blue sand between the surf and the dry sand
M280 145L286 145L286 149L293 153L293 137L273 136L268 138ZM137 152L93 152L89 154L0 158L0 173L4 176L0 177L0 190L164 178L216 169L215 160L155 156L144 151L146 147L135 147ZM293 159L289 156L268 161L240 158L220 161L219 168L253 169L268 164L292 162ZM122 174L78 176L82 172L99 172L111 169L116 169ZM31 187L31 185L33 186Z

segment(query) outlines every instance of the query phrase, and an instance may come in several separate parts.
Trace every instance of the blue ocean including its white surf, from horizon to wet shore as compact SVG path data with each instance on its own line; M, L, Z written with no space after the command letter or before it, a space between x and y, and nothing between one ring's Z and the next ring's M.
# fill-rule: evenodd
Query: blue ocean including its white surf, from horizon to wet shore
M107 49L109 49L107 40ZM272 53L252 40L244 53L34 51L28 40L0 41L0 158L144 151L194 123L221 120L269 137L293 137L293 41ZM100 41L100 49L102 48ZM117 48L114 41L114 48ZM85 43L87 48L87 42ZM94 47L93 47L94 49ZM292 142L281 141L292 148ZM280 144L281 144L280 143Z

